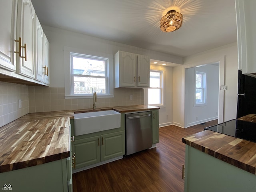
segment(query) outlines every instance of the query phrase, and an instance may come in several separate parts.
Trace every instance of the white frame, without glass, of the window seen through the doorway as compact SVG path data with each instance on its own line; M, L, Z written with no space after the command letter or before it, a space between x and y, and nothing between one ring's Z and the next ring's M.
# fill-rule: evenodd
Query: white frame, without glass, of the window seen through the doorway
M202 75L202 83L201 87L196 87L196 75L200 74ZM201 89L201 97L202 102L196 102L196 90ZM194 79L194 106L205 106L206 105L206 72L200 72L195 69L195 79Z

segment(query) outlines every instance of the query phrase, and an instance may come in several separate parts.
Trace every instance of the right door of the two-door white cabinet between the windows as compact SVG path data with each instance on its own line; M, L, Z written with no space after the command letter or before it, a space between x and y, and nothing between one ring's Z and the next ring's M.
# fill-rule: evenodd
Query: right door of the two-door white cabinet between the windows
M150 58L145 55L138 55L137 61L137 86L149 87L150 82Z

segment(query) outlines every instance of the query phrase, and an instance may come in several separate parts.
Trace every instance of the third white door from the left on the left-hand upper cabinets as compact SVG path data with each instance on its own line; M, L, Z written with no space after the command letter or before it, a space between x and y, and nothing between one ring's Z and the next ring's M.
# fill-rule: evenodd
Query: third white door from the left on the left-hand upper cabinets
M44 32L38 17L36 16L36 30L35 30L35 66L36 66L36 80L44 82Z

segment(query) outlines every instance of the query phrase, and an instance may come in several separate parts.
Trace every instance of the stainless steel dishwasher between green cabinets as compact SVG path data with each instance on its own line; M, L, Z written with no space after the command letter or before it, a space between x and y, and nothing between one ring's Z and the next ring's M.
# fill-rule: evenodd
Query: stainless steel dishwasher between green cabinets
M152 147L151 112L125 115L126 155Z

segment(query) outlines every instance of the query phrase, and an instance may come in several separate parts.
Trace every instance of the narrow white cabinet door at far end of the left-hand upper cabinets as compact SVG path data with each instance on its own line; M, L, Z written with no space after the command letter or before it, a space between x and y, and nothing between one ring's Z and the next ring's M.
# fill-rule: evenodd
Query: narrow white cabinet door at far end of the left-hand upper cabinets
M43 64L43 74L44 74L44 83L50 84L50 75L49 75L49 64L50 64L50 44L46 35L44 34L44 64Z

